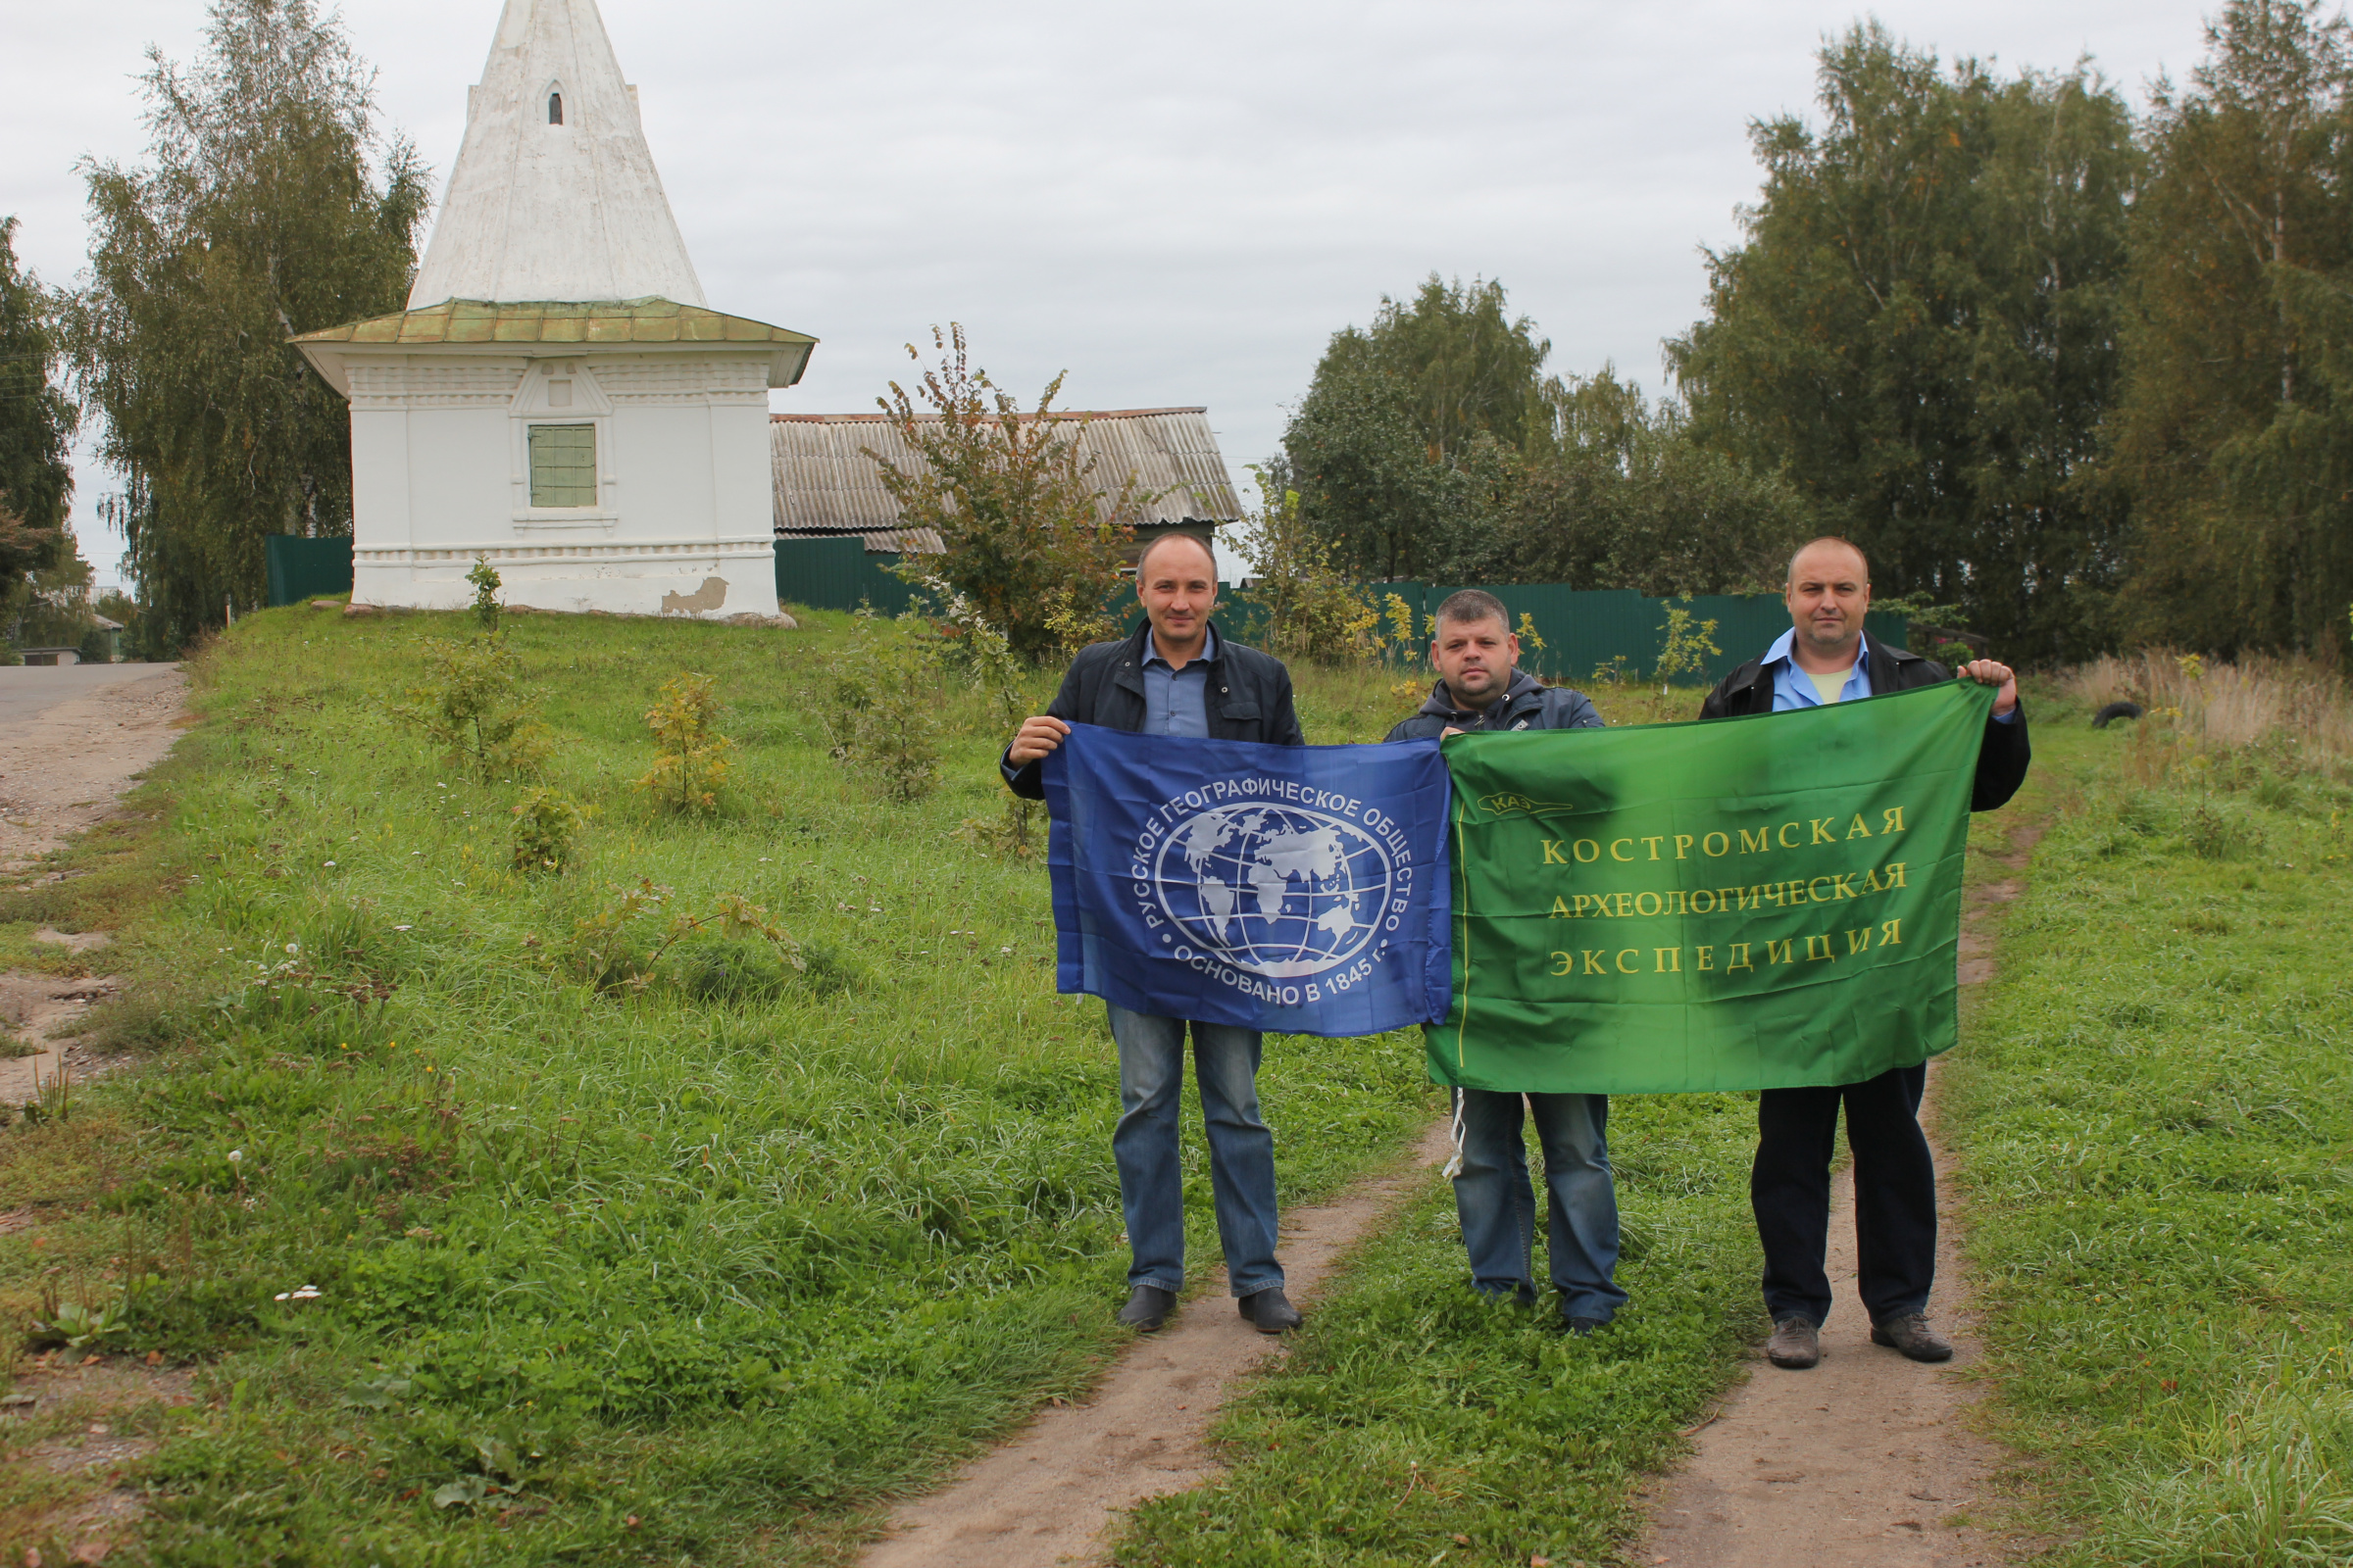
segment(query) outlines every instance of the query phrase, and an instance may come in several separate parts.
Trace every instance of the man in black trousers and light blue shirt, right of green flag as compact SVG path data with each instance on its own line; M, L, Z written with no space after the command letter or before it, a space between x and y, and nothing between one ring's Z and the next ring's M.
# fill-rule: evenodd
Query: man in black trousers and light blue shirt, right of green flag
M1701 719L1821 708L1953 679L1932 658L1864 637L1871 609L1871 562L1845 538L1817 538L1788 564L1791 630L1765 658L1725 677L1699 708ZM1979 658L1960 670L1998 686L1986 741L1977 755L1972 811L1993 811L2026 783L2026 710L2007 665ZM1831 1145L1847 1112L1854 1150L1854 1239L1859 1288L1871 1314L1871 1342L1913 1361L1948 1361L1953 1345L1929 1328L1927 1295L1937 1279L1937 1166L1920 1133L1927 1065L1894 1067L1864 1084L1767 1088L1758 1095L1758 1157L1748 1204L1765 1244L1765 1307L1774 1366L1821 1361L1821 1324L1831 1314L1824 1248L1831 1234Z

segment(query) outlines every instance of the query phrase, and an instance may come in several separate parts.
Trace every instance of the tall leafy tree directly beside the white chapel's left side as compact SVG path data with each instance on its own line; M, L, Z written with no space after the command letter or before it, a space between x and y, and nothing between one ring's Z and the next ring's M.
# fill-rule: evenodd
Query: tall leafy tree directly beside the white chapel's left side
M68 343L151 651L261 602L264 536L351 531L351 416L287 339L407 296L426 169L372 80L311 0L216 0L193 66L148 52L148 162L82 165Z

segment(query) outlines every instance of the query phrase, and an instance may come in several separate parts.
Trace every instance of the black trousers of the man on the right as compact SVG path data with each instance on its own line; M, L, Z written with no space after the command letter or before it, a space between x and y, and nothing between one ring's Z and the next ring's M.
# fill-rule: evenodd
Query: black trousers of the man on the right
M1772 1321L1831 1316L1831 1152L1838 1107L1854 1150L1854 1241L1864 1309L1873 1324L1925 1312L1937 1281L1937 1166L1920 1131L1927 1065L1894 1067L1835 1088L1767 1088L1758 1095L1758 1159L1748 1204L1765 1244L1765 1309Z

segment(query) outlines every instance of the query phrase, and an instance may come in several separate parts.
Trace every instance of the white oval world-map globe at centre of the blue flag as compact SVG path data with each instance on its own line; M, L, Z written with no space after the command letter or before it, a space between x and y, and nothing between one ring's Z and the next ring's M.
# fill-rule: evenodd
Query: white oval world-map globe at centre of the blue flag
M1212 806L1181 818L1153 856L1176 929L1268 980L1353 959L1379 931L1393 879L1379 839L1301 806Z

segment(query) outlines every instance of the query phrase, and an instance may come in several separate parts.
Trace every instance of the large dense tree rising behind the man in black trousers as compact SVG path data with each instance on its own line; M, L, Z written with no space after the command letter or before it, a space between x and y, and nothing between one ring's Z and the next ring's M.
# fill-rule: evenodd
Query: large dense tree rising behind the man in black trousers
M1751 132L1765 190L1668 346L1692 433L1781 470L2017 656L2092 646L2118 508L2087 482L2118 374L2139 153L2087 66L1944 71L1878 24L1824 47L1824 127Z

